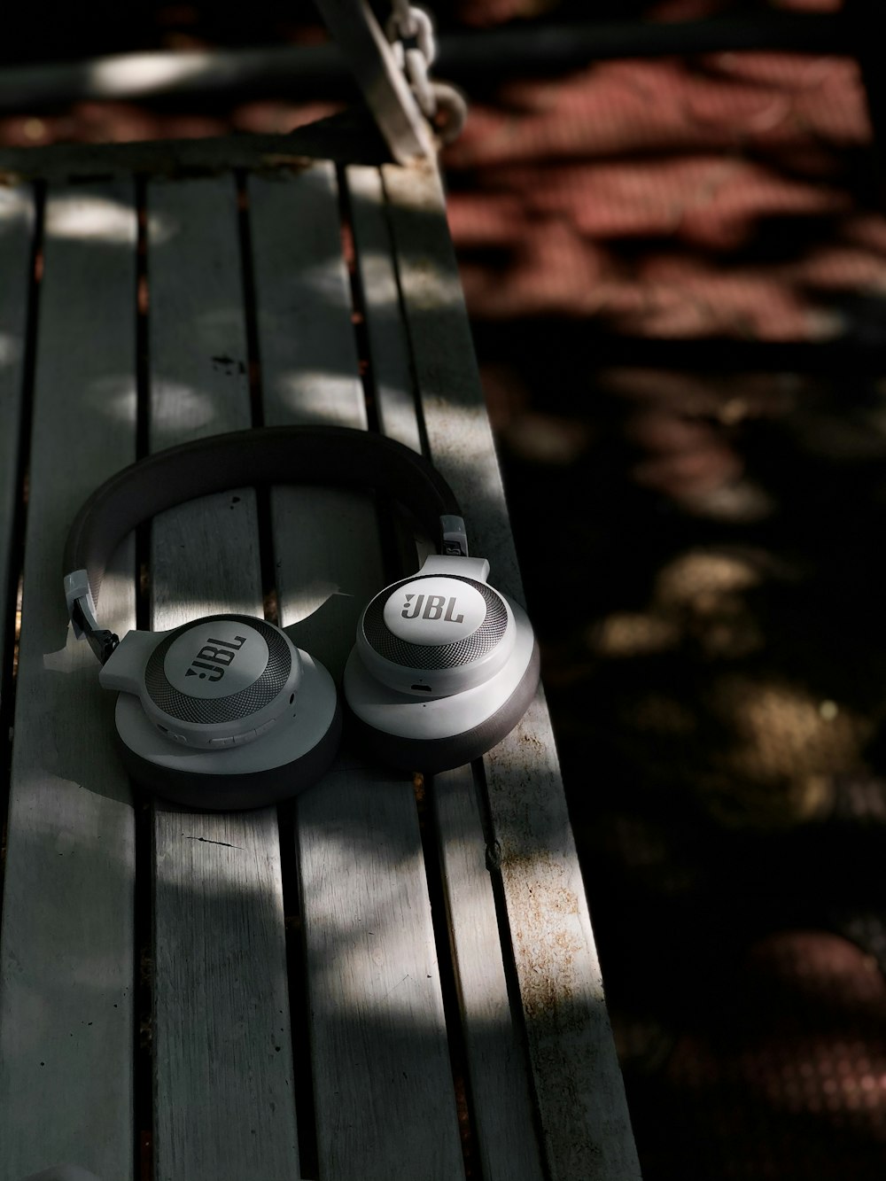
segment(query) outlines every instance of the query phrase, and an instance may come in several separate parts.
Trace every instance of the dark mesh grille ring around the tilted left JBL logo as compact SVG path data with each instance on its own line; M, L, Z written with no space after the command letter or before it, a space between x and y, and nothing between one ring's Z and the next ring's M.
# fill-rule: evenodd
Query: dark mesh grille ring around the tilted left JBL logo
M194 624L184 624L158 645L148 660L144 671L144 685L148 696L157 706L171 718L180 722L193 722L197 725L210 726L217 722L236 722L248 718L250 713L256 713L263 709L284 690L289 672L292 671L292 653L286 640L280 633L261 619L252 619L249 615L209 615L206 620L195 622L211 622L214 620L232 620L237 624L248 624L253 631L265 640L268 646L268 663L258 680L247 689L241 689L237 693L228 697L197 698L182 693L181 690L171 685L163 670L163 661L170 645L178 637L194 627Z

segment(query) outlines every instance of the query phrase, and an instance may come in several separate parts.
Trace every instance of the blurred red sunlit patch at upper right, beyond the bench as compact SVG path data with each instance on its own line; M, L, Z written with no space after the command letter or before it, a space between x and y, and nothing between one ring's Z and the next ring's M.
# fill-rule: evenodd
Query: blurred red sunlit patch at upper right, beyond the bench
M513 81L444 156L471 315L852 338L846 296L886 278L882 215L847 184L869 136L846 58L711 53Z

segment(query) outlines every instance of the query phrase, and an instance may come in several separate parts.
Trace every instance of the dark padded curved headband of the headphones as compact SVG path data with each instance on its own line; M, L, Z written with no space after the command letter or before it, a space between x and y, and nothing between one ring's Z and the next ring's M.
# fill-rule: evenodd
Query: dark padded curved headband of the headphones
M83 616L85 598L93 615L105 567L131 529L197 496L261 484L376 488L409 508L431 537L441 529L441 517L461 517L455 494L439 472L384 435L348 426L262 426L183 443L116 472L74 517L64 561L78 634L95 629L96 621L86 615L92 627L85 627L74 605L80 603ZM462 549L467 553L467 547ZM78 579L82 572L85 579Z

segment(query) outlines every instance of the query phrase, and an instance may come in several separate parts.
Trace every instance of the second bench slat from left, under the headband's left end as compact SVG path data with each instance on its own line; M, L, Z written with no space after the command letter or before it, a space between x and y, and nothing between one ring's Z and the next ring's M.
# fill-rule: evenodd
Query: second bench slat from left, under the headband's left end
M0 940L0 1175L59 1161L132 1175L132 882L129 785L113 700L67 628L71 517L135 450L130 185L51 191L46 207ZM131 547L102 587L133 621Z

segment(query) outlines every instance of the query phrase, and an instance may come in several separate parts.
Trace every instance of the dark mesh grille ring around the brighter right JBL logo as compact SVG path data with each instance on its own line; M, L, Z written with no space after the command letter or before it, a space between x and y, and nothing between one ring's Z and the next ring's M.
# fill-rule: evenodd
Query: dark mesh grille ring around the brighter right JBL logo
M425 578L438 578L438 575L425 575ZM454 644L410 644L400 640L390 631L384 621L384 608L387 599L398 587L405 587L419 579L403 579L392 587L386 587L382 594L376 595L363 616L363 634L366 642L385 660L391 664L402 665L405 668L422 668L429 672L436 668L460 668L462 665L473 664L487 653L491 652L501 642L508 626L508 609L504 602L483 582L475 582L474 579L465 579L458 574L448 574L447 578L454 582L467 582L474 587L486 601L486 618L480 627L465 635L463 640Z

